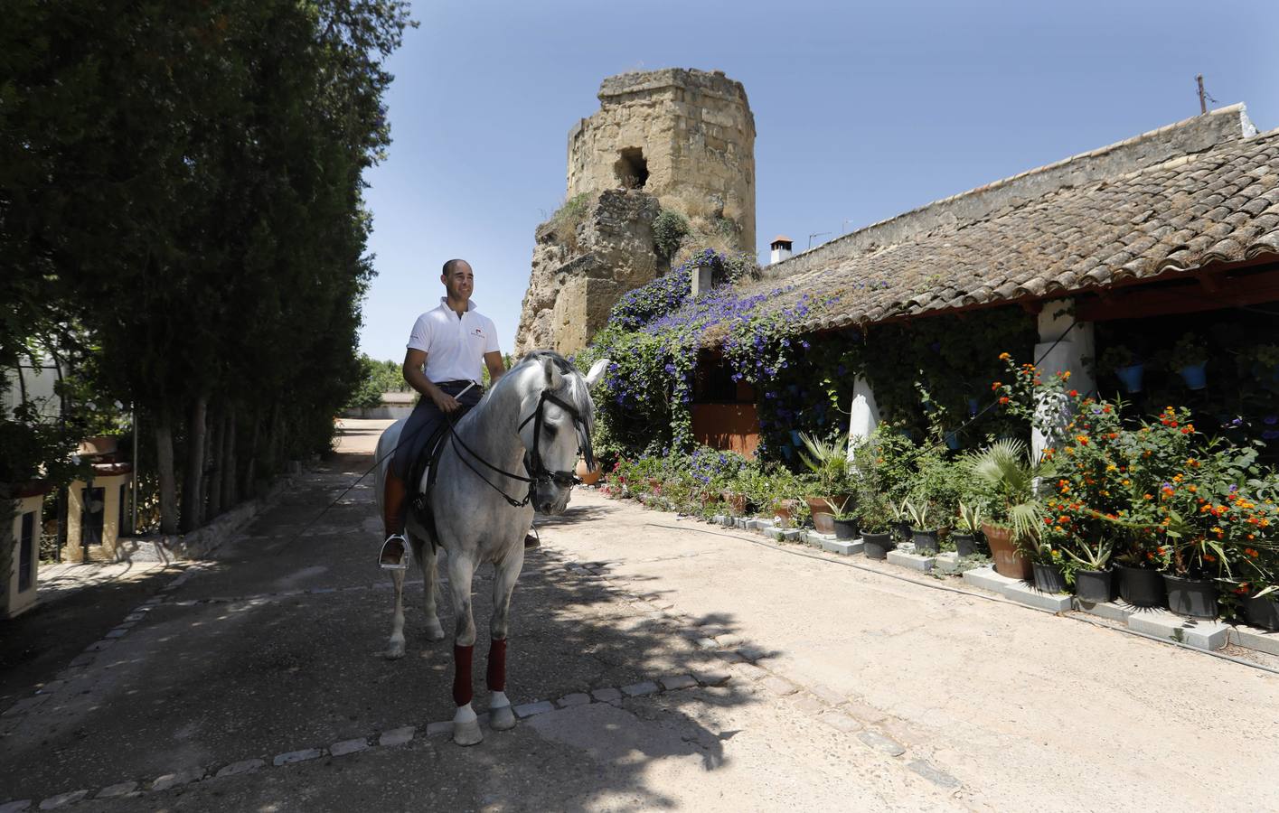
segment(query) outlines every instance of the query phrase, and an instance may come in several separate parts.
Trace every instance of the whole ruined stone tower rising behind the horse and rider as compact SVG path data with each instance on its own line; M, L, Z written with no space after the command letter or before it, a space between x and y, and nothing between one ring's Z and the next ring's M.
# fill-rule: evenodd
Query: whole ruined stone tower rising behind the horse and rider
M628 290L665 274L663 208L755 249L755 116L741 82L669 68L609 77L568 137L564 208L537 228L515 352L573 353Z

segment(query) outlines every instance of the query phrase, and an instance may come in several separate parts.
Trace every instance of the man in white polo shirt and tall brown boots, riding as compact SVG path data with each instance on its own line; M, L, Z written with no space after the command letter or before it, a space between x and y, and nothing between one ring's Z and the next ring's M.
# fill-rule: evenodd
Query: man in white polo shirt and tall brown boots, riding
M457 421L466 409L480 403L481 364L496 382L506 367L498 345L498 329L492 320L476 311L471 302L475 272L466 259L450 259L440 274L445 295L440 307L417 317L404 353L404 381L422 394L395 449L386 472L382 542L379 561L384 569L408 568L408 541L404 538L404 499L414 463L427 451L445 421ZM536 545L527 537L526 547Z

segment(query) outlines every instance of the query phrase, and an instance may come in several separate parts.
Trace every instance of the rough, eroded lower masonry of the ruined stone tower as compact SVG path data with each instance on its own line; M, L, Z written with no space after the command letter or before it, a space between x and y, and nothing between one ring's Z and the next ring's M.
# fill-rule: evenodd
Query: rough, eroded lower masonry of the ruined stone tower
M657 198L634 189L593 197L574 234L555 220L537 228L533 271L515 334L515 355L533 349L573 353L609 321L628 290L666 268L652 247Z

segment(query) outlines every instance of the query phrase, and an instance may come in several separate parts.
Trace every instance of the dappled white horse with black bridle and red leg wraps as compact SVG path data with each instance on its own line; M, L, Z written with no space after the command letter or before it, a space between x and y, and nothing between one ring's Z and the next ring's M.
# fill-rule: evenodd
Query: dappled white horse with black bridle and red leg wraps
M435 543L449 552L449 593L457 619L453 639L453 741L475 745L483 739L471 708L471 661L476 642L471 616L471 580L481 562L494 564L492 619L489 629L489 724L495 730L515 726L504 692L510 592L524 564L524 533L533 510L560 514L568 506L578 450L593 464L591 430L595 404L590 386L608 360L596 362L583 378L563 357L535 350L503 376L445 437L430 495L435 528L412 510L405 530L413 556L421 562L426 591L426 630L431 640L444 638L436 615ZM390 451L399 444L404 421L393 423L377 440L377 501L381 510ZM527 464L527 468L526 468ZM426 491L426 477L409 483L408 502ZM393 570L395 615L386 657L404 656L404 571Z

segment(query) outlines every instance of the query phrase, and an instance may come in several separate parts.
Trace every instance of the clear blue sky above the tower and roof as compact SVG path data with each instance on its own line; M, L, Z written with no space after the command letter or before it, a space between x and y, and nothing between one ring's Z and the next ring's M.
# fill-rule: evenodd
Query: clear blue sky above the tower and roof
M533 229L564 198L568 130L627 70L721 69L756 124L757 236L796 248L1198 112L1279 127L1279 3L414 4L389 61L388 160L367 174L377 277L361 349L400 359L464 257L513 345ZM817 238L821 242L829 238Z

